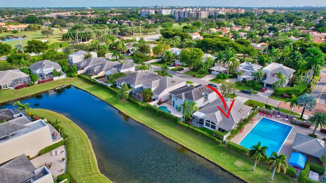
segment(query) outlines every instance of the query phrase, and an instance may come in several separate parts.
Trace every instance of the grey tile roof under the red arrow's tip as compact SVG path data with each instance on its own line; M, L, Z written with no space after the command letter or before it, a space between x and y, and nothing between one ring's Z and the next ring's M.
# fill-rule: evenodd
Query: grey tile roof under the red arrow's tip
M226 100L227 110L231 106L233 99ZM212 101L203 107L198 112L205 114L203 118L213 121L218 124L218 126L224 130L229 131L234 127L234 125L239 122L246 114L250 112L252 107L245 106L241 101L234 100L232 110L230 112L229 118L227 118L220 110L217 108L220 106L223 108L223 102L220 98ZM196 113L194 115L196 116Z

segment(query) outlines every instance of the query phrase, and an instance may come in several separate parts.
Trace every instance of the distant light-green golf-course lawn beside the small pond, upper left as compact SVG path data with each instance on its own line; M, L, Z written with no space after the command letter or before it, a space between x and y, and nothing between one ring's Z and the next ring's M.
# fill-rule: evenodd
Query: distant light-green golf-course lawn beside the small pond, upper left
M27 36L27 38L25 39L21 39L21 43L23 46L27 45L27 41L30 41L32 39L37 39L37 40L48 40L51 43L64 43L65 41L61 40L61 36L62 34L64 34L65 32L61 33L59 30L53 30L53 35L52 36L43 36L41 34L41 30L39 31L24 31L24 32L18 32L17 34L13 34L13 33L3 33L0 34L0 36ZM13 48L15 47L15 45L17 43L19 43L19 40L15 40L15 41L6 41L4 43L10 44Z

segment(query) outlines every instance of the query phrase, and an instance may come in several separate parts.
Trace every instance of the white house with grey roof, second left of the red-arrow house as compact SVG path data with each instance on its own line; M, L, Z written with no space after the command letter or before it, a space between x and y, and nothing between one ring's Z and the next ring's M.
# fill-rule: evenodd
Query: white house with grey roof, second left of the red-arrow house
M186 85L186 80L181 77L161 77L158 80L154 80L143 84L144 89L150 88L153 92L152 101L161 99L161 101L170 100L170 91Z

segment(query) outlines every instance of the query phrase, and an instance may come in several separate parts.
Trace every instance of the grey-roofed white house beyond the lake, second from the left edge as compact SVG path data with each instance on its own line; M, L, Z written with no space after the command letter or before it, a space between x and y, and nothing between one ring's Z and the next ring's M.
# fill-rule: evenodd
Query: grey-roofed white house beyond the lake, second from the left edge
M29 66L29 69L33 74L47 74L53 72L53 70L57 70L58 72L61 72L61 66L56 63L52 62L50 60L42 60L39 62L36 62Z

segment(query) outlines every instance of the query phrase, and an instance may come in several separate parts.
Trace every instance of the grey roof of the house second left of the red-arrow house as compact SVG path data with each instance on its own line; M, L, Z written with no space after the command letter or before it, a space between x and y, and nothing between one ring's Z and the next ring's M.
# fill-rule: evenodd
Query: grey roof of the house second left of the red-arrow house
M160 95L166 89L178 85L182 82L185 82L181 77L162 77L158 80L145 83L144 86L147 86L152 89L153 94Z

